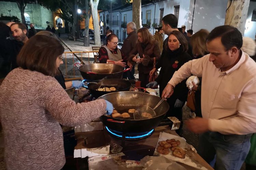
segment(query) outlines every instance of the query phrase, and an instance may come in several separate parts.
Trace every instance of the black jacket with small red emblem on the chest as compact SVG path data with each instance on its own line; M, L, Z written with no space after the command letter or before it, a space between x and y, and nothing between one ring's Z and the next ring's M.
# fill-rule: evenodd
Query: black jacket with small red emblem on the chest
M162 91L166 87L167 83L171 80L174 72L179 70L179 68L183 64L185 64L189 60L192 60L187 52L182 51L182 47L175 51L171 51L168 49L165 51L165 55L161 56L160 60L157 63L157 67L161 67L158 78L156 79L156 82L159 84L160 96L162 95ZM186 101L187 93L188 88L186 87L186 80L183 80L174 88L174 93L171 96L171 99Z

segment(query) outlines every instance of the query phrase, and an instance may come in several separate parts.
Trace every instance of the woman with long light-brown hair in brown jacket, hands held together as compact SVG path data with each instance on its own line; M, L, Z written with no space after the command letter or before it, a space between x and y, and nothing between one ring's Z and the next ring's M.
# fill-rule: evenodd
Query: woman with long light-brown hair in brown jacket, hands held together
M129 61L132 65L139 63L139 80L141 81L141 87L146 88L146 84L149 83L149 73L154 66L154 57L157 62L161 56L161 53L157 40L155 40L147 28L139 29L137 34L137 47L130 52ZM140 58L137 58L138 53Z

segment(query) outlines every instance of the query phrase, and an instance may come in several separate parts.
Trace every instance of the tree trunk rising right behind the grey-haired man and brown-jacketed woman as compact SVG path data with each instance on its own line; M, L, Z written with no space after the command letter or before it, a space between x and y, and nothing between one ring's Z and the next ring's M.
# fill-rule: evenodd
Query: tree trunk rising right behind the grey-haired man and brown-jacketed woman
M141 28L141 0L132 1L132 22L137 26L137 30Z

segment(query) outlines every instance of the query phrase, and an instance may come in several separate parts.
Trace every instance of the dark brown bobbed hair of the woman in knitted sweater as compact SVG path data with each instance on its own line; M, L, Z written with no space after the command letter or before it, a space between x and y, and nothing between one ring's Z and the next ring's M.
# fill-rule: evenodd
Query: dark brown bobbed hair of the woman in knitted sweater
M54 77L59 73L56 60L64 52L56 38L34 35L28 39L17 56L17 64L23 69L38 71Z

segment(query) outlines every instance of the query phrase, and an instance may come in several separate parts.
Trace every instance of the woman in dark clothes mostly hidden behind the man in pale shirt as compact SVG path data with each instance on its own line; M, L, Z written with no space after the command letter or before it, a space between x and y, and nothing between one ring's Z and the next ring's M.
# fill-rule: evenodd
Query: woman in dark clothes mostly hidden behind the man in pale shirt
M209 34L209 31L205 30L205 29L201 29L198 32L196 32L193 36L191 36L190 38L190 44L192 46L192 52L194 57L197 58L201 58L206 54L209 54L209 52L207 51L206 48L206 38ZM196 103L195 103L195 114L198 117L202 117L202 111L201 111L201 82L202 82L202 78L199 77L199 85L194 84L192 90L196 91L195 93L195 99L196 99Z

